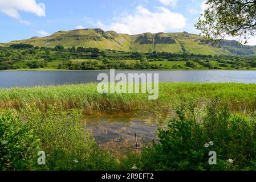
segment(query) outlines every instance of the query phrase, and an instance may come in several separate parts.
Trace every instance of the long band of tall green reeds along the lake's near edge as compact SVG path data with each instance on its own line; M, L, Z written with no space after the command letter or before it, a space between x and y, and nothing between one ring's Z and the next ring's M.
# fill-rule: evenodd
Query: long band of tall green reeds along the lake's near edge
M78 108L84 113L124 112L135 109L163 110L181 102L203 105L221 97L230 110L255 109L255 84L173 84L159 85L159 99L148 100L148 94L99 94L96 84L13 88L0 90L0 109L21 109L27 104L39 108L54 104L64 110Z

